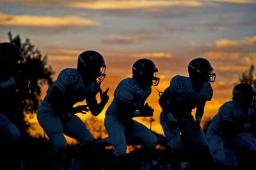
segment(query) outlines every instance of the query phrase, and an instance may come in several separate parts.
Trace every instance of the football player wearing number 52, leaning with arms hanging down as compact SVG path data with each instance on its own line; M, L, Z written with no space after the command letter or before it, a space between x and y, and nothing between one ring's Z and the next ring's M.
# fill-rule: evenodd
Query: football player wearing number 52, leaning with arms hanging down
M175 75L170 81L170 86L159 98L163 109L160 123L168 140L172 170L181 169L180 133L194 149L193 160L189 162L188 169L204 168L204 165L211 161L200 121L204 115L205 103L211 100L213 94L210 82L214 82L215 73L212 71L211 63L207 59L193 59L188 65L189 77ZM195 108L196 115L193 118L191 112Z

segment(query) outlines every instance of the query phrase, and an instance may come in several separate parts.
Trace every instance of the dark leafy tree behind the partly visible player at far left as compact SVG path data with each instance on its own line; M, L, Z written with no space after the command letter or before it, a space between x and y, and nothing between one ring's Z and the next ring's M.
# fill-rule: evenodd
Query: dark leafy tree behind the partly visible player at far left
M47 55L42 56L40 50L35 49L28 38L24 43L21 42L20 36L14 38L12 33L8 33L11 43L17 45L22 50L24 61L20 63L19 80L17 84L19 90L19 108L17 114L13 116L13 122L20 128L22 134L26 134L28 123L24 121L24 114L35 113L40 105L41 86L52 84L52 68L47 66ZM28 82L28 83L24 83ZM26 91L26 87L29 88Z

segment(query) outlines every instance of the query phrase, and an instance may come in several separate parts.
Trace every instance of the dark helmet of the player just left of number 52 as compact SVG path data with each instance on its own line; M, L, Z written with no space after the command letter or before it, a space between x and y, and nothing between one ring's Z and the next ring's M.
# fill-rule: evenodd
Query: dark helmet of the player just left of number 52
M156 77L158 69L150 59L139 59L132 65L132 77L145 86L157 86L159 77Z

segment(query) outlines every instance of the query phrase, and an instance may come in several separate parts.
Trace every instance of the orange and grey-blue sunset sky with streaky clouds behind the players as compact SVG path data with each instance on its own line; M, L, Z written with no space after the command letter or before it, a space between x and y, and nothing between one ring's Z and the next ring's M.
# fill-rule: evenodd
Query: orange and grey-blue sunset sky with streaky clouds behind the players
M8 41L9 31L47 54L54 80L61 69L76 67L84 50L100 52L107 65L102 89L110 88L108 105L137 59L156 63L163 91L174 75L188 75L191 59L203 57L216 72L204 115L211 118L231 99L239 75L256 66L256 0L0 0L0 42ZM152 130L162 133L158 98L152 88L147 100L155 109Z

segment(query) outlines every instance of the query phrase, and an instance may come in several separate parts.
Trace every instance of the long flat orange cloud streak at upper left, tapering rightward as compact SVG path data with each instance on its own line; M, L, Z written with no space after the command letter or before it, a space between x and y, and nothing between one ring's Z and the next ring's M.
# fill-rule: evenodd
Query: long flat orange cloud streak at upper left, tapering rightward
M76 16L48 17L42 15L8 15L0 13L2 26L31 26L31 27L67 27L67 26L99 26L99 23Z

